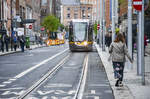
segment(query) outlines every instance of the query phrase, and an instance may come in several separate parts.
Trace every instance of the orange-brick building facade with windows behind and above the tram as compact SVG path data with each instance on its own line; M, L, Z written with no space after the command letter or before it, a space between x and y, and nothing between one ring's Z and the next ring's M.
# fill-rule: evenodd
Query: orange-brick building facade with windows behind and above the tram
M63 2L61 6L61 23L65 26L69 25L72 19L90 19L92 20L93 5L80 3L75 1L74 3Z

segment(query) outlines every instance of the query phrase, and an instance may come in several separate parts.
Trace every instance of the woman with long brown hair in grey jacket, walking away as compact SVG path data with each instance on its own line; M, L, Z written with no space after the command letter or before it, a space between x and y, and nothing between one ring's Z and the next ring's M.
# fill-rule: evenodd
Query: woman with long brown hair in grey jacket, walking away
M115 86L123 86L123 71L126 61L126 56L132 63L133 60L128 53L127 46L125 44L124 36L121 33L118 33L116 39L111 43L109 47L109 53L111 54L111 59L114 69L114 77L117 79Z

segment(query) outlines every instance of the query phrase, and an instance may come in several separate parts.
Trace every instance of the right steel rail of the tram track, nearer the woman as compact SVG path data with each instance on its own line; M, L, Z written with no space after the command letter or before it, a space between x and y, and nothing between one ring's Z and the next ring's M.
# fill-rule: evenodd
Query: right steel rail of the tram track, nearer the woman
M87 71L88 71L88 54L86 55L86 57L84 59L81 77L80 77L80 80L78 83L77 91L76 91L73 99L82 99L85 84L86 84Z

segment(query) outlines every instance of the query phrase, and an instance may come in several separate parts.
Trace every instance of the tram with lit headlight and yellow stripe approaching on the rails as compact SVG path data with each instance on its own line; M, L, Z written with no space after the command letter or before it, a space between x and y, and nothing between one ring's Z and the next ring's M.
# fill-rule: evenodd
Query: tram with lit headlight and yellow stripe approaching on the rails
M88 19L73 19L69 25L71 51L92 51L93 26Z

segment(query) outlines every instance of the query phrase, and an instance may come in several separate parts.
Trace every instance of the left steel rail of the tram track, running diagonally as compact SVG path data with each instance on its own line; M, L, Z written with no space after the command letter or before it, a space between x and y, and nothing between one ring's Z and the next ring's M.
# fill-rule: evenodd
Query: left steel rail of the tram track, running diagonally
M67 55L62 61L60 61L53 69L51 69L48 73L46 73L39 81L37 81L34 85L28 88L22 95L18 96L16 99L24 99L27 97L32 91L36 88L40 87L48 78L50 78L54 73L56 73L59 68L67 61L70 54Z

